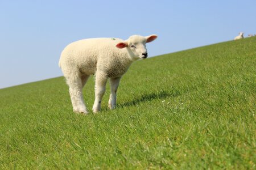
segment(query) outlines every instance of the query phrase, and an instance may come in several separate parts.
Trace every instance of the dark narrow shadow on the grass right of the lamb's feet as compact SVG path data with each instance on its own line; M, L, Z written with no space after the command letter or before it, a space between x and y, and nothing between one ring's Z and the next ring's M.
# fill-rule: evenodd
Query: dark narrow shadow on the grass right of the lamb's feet
M127 101L126 103L118 104L119 107L129 107L131 105L137 105L138 103L152 101L155 99L166 99L167 97L179 96L180 92L177 90L161 90L158 92L151 92L150 94L143 94L139 97L134 98L132 101Z

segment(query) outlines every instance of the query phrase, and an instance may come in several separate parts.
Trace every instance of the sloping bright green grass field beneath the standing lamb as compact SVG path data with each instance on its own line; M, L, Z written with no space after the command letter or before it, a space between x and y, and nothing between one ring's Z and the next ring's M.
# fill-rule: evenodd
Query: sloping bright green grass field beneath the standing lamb
M255 169L256 37L135 62L118 106L64 78L0 90L0 169Z

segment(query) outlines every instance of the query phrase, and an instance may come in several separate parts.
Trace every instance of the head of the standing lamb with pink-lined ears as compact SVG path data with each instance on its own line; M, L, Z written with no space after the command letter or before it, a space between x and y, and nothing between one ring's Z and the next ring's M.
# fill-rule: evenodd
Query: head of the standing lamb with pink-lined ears
M139 36L133 35L130 36L128 40L119 42L115 45L117 48L127 48L127 51L131 57L134 59L145 59L147 58L147 48L146 43L154 41L158 36L150 35L150 36Z

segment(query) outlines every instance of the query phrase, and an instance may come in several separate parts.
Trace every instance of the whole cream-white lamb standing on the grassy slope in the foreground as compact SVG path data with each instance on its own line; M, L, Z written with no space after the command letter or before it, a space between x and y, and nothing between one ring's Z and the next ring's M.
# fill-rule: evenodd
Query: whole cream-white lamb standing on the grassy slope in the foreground
M95 100L93 112L101 110L101 100L110 79L111 94L109 108L114 109L120 79L132 62L146 59L146 43L158 36L130 36L127 40L117 38L95 38L72 42L60 56L59 67L69 86L73 112L87 114L82 88L90 75L95 75Z

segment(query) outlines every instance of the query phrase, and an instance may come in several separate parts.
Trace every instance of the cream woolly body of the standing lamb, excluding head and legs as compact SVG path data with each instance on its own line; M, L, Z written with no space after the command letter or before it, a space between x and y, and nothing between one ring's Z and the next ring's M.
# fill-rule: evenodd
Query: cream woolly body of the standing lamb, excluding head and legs
M110 78L122 76L133 62L127 48L115 47L122 41L124 40L96 38L72 42L61 53L59 66L65 76L72 73L92 75L96 71Z

